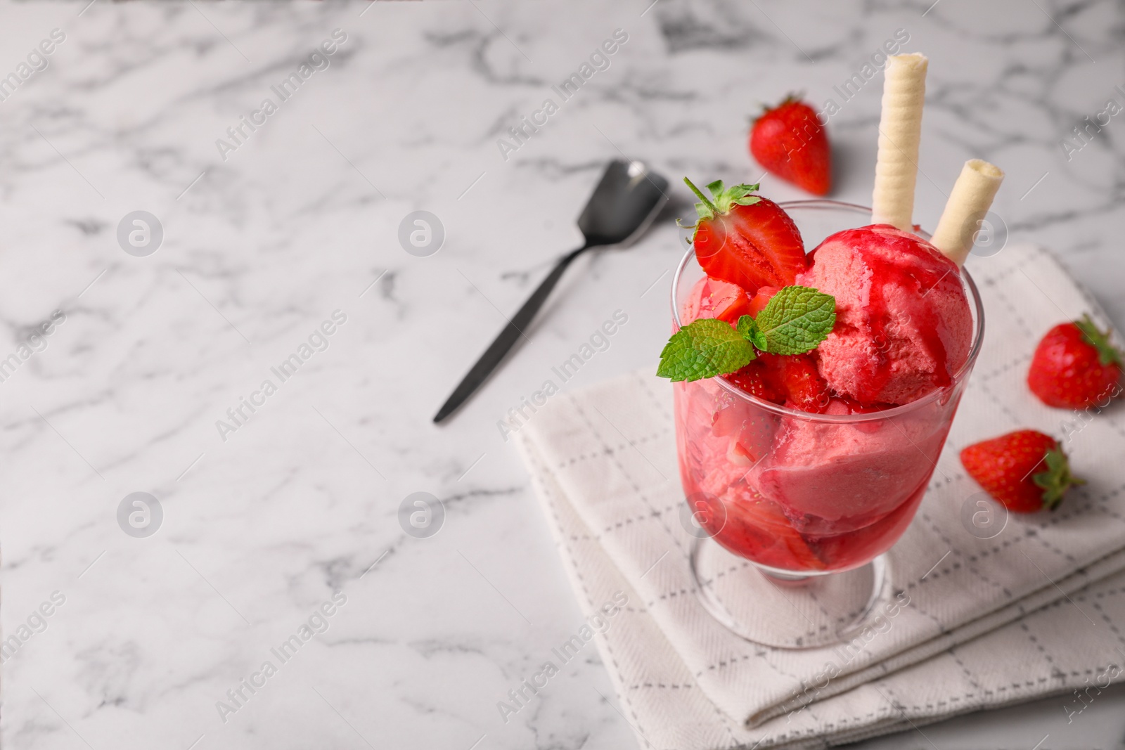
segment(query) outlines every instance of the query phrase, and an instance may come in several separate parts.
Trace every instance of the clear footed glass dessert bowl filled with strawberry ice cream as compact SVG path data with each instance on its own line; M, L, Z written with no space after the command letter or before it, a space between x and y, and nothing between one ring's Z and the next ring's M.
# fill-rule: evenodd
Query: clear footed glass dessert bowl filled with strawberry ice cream
M781 207L806 247L871 220L871 209L831 200ZM675 331L703 277L688 251L672 286ZM826 389L825 413L813 413L754 396L726 376L674 383L680 473L696 525L696 590L734 632L781 648L813 648L847 640L879 615L890 596L881 555L921 503L980 351L980 297L963 269L960 283L972 315L968 358L947 383L900 406L854 408ZM801 589L792 588L796 582ZM802 589L814 607L794 604ZM763 600L778 595L789 604ZM762 616L778 607L801 611L794 622L802 626L794 631L793 623ZM810 618L816 613L822 622Z

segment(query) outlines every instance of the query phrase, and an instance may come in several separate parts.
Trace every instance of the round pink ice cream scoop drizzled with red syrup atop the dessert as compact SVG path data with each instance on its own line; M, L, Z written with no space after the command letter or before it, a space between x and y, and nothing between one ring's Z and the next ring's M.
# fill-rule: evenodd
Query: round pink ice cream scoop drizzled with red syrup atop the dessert
M811 254L798 283L836 298L820 374L862 404L907 404L950 385L969 359L973 319L957 266L888 224L845 229Z

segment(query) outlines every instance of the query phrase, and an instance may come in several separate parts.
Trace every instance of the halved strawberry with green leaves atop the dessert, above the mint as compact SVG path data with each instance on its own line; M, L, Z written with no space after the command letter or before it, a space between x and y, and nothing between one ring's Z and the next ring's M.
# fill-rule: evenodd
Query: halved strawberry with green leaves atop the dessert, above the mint
M711 198L692 181L699 196L692 243L695 257L712 279L736 283L754 295L759 287L785 287L808 268L804 243L793 219L777 204L750 193L756 184L708 186Z

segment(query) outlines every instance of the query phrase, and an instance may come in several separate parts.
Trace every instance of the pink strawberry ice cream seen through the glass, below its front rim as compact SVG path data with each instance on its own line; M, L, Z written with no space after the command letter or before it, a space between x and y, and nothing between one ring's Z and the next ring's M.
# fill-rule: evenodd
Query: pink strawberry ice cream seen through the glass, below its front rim
M713 380L678 383L684 490L717 542L759 564L862 564L914 517L960 391L890 419L832 423L771 413ZM853 409L831 398L826 414Z

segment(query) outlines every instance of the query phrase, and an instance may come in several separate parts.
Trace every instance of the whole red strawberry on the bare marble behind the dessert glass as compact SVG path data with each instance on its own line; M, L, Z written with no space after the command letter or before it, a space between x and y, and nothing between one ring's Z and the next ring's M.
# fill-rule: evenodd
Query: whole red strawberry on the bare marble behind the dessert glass
M777 177L827 196L831 188L831 151L816 110L793 96L754 120L750 153Z

